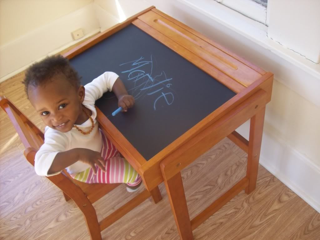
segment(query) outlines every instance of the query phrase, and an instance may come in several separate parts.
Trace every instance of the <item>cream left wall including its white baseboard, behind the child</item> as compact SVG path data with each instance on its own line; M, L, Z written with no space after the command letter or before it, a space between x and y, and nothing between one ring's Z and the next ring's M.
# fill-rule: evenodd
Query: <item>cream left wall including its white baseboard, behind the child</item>
M93 0L1 0L0 82L75 44L79 28L85 37L100 31Z

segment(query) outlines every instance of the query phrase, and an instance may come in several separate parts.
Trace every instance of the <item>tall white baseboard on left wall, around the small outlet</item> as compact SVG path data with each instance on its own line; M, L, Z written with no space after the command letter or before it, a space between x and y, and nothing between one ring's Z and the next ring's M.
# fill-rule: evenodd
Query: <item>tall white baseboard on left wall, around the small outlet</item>
M84 37L74 41L71 32L83 29ZM58 53L100 31L94 4L71 12L0 47L0 82L14 76L47 55Z

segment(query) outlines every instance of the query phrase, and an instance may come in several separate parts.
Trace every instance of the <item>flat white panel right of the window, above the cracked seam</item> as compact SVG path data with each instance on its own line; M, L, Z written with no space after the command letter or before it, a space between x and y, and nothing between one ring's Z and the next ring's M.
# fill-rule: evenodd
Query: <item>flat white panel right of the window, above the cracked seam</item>
M270 1L268 36L300 53L313 62L320 62L320 1Z

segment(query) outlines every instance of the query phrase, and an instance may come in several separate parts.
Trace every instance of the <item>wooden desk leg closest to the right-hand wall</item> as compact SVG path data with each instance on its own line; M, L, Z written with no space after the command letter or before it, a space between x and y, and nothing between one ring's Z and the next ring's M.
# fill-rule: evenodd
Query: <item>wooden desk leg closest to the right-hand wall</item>
M265 107L262 108L250 120L247 164L247 177L249 178L249 185L245 188L246 194L250 194L256 188L265 110Z

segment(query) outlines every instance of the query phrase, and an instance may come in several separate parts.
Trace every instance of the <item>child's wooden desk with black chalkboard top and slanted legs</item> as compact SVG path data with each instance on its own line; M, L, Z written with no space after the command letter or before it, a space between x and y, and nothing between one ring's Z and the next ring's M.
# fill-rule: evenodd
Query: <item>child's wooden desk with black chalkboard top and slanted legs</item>
M244 188L254 189L265 105L271 100L271 72L153 6L64 56L77 56L71 62L83 83L104 71L115 71L136 97L132 109L112 117L117 100L110 93L103 95L96 102L97 119L156 199L157 186L166 182L168 196L174 195L172 208L184 205L180 216L188 214L180 171L224 137L248 153L248 171L221 198L231 198ZM249 119L250 143L235 131ZM192 238L190 227L201 224L211 210L204 210L191 224L188 218L179 217L184 222L178 228L189 225L184 234L189 232L186 238Z

